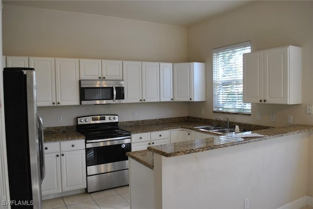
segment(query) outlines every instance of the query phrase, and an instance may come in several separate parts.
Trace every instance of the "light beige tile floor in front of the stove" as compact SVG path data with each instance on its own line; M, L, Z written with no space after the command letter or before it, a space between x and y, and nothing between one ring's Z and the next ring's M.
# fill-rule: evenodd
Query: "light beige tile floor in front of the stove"
M44 200L44 209L130 209L129 186Z

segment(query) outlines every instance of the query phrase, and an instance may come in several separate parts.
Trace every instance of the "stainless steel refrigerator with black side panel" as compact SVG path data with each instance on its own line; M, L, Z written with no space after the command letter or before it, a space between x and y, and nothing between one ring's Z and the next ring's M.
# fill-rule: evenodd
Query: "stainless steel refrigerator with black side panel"
M12 209L41 209L45 176L43 123L34 68L4 68L4 118Z

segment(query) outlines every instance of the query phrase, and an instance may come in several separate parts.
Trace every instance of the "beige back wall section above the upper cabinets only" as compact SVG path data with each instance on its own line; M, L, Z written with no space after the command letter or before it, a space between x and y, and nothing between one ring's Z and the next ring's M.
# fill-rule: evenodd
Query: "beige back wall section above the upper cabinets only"
M184 62L185 27L3 5L3 54Z

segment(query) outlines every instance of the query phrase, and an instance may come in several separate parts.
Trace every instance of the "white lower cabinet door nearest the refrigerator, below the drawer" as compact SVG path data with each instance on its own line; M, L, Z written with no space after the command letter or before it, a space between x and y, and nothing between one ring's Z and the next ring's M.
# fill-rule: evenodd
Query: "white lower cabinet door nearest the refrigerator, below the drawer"
M60 153L45 154L45 180L41 186L42 194L54 194L62 191Z

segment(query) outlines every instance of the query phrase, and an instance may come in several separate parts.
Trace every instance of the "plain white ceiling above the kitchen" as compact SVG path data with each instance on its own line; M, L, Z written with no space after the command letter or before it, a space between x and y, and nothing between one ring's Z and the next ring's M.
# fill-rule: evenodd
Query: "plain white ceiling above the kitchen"
M187 26L251 0L3 0L4 4Z

